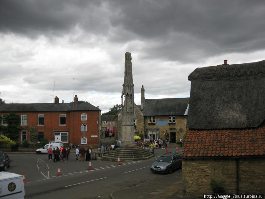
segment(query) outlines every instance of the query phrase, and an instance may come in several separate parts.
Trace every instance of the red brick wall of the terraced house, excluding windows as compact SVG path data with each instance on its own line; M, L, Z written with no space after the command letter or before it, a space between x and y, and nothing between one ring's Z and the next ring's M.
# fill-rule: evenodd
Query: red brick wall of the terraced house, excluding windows
M81 121L81 114L87 114L87 120ZM9 113L0 113L0 115ZM87 145L98 145L98 119L99 111L71 111L71 112L19 112L19 115L27 115L27 125L22 125L22 131L27 132L27 140L30 140L30 127L33 126L38 131L44 131L44 138L49 142L54 141L54 131L68 131L68 142L81 144L81 137L87 138ZM44 125L38 125L38 114L44 114ZM66 114L66 125L59 125L59 115ZM21 125L21 122L19 123ZM81 125L87 125L87 131L81 132ZM0 123L1 125L1 123ZM21 132L19 132L18 142L21 143Z

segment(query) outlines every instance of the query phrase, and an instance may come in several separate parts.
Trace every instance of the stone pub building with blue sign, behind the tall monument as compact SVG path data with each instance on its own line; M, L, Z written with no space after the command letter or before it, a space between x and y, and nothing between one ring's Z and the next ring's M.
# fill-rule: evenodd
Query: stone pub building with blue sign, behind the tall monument
M176 143L186 131L189 98L145 99L145 89L141 88L141 105L134 103L135 135L158 139L168 138ZM115 116L115 131L120 135L121 114ZM117 138L121 138L120 136Z

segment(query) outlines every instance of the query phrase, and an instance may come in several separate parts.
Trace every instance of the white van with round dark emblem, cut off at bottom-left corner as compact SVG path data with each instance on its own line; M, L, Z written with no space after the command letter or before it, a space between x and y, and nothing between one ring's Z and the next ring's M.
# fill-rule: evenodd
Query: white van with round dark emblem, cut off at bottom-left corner
M0 198L25 198L25 188L22 175L0 172Z

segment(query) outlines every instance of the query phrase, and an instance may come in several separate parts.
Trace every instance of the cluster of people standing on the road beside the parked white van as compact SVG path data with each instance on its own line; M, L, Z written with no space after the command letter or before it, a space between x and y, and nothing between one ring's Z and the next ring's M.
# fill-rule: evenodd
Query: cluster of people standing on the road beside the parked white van
M48 160L51 161L52 160L52 155L53 155L53 161L54 162L60 162L61 160L63 162L68 162L69 161L69 156L70 156L70 149L69 147L64 147L62 146L61 148L56 147L55 148L49 148L48 149Z

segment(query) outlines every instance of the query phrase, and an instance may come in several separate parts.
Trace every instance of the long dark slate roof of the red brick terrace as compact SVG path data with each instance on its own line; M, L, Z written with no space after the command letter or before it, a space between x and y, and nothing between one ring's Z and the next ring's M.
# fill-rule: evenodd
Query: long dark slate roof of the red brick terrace
M46 111L100 111L88 102L78 103L3 103L0 112L46 112Z

